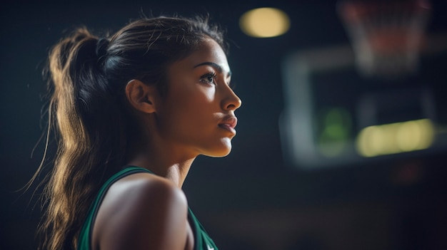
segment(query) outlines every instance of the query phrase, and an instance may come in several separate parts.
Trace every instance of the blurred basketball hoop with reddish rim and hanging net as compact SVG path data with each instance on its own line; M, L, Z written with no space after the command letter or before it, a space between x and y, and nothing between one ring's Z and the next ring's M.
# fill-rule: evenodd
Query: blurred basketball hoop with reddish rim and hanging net
M338 11L363 75L398 78L417 71L428 1L341 1Z

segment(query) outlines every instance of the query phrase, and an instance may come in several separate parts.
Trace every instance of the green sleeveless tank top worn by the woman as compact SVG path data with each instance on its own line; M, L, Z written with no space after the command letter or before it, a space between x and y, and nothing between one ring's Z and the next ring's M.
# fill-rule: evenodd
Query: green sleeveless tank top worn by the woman
M126 169L116 173L114 176L108 179L106 183L104 183L104 185L99 190L99 194L96 196L94 203L91 204L89 214L87 214L84 226L82 226L81 234L79 234L77 248L78 250L91 250L91 234L93 233L93 224L96 219L96 214L102 200L104 199L107 189L109 189L111 184L114 184L114 182L123 177L141 172L148 172L153 174L152 172L144 168L131 166L126 167ZM197 220L196 216L194 216L190 208L188 208L188 221L194 233L194 250L217 250L214 241L206 233L204 227L200 224L199 220Z

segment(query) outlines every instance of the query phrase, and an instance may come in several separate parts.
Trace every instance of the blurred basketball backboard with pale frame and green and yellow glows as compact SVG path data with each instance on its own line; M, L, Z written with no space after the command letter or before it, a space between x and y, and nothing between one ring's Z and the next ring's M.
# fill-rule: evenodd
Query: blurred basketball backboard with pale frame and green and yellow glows
M362 75L350 46L296 51L282 70L281 142L290 165L447 150L447 36L432 38L408 75Z

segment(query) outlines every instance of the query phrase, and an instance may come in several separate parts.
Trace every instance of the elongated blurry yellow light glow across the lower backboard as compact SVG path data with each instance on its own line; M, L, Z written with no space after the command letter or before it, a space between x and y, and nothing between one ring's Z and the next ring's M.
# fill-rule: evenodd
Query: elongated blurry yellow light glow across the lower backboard
M423 150L431 146L433 139L431 120L411 120L365 127L358 133L356 147L360 155L373 157Z

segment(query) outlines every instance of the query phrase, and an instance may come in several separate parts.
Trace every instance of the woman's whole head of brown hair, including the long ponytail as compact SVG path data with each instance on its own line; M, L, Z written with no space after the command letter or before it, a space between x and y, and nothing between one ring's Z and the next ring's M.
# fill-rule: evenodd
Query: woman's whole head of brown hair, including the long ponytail
M43 249L76 249L96 193L126 163L136 126L126 83L138 79L165 93L169 65L206 36L226 51L221 31L208 19L180 17L138 19L111 38L79 28L51 49L49 132L56 131L58 148L44 191Z

